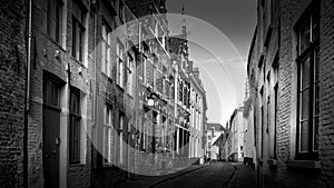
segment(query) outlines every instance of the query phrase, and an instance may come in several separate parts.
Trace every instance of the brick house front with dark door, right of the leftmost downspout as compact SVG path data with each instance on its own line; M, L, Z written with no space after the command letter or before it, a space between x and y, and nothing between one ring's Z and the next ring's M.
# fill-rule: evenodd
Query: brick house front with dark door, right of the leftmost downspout
M90 187L91 6L32 0L29 187Z

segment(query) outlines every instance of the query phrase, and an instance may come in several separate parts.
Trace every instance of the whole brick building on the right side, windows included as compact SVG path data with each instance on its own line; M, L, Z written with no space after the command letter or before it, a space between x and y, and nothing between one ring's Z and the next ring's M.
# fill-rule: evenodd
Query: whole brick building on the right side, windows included
M258 1L248 58L259 187L333 187L333 1Z

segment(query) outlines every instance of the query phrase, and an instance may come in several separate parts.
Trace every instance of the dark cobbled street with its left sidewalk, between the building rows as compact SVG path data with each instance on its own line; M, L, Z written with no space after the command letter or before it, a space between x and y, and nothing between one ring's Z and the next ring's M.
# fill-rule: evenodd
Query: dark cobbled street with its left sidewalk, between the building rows
M255 171L242 164L213 162L159 177L140 177L117 188L255 188Z

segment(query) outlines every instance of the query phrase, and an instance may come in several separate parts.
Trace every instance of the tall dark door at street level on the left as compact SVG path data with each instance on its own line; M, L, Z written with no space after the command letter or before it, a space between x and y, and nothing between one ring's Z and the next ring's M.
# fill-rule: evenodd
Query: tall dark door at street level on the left
M50 79L43 83L43 175L46 188L59 187L59 85Z

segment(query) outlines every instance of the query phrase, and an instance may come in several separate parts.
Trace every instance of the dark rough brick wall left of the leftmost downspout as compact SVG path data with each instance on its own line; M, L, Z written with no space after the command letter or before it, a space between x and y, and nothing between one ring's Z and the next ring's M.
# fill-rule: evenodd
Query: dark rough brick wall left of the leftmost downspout
M27 1L1 2L0 27L0 187L22 187Z

